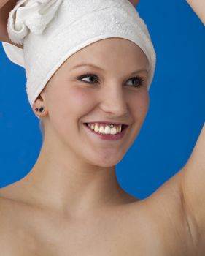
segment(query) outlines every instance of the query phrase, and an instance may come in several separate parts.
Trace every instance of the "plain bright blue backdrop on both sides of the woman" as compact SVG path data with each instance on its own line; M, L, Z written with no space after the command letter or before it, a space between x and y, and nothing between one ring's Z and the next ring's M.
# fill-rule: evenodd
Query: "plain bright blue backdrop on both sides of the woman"
M187 162L204 124L205 29L186 1L142 0L157 53L150 108L139 136L117 164L117 179L143 199ZM0 44L0 187L26 176L42 146L39 120L26 95L26 75Z

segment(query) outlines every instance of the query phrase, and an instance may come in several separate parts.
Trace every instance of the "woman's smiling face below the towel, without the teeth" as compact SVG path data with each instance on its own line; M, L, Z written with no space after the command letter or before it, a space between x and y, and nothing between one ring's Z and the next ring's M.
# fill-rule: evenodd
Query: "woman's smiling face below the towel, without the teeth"
M45 138L53 146L61 140L74 157L89 164L116 165L147 114L147 64L142 50L127 39L103 39L74 53L42 92L48 112ZM128 124L128 129L120 140L102 140L85 125L97 121Z

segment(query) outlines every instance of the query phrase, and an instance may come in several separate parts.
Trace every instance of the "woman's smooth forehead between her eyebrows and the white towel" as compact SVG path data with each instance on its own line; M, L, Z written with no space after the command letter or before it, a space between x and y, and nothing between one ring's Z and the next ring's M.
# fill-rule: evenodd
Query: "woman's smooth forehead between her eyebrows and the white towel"
M134 42L123 38L101 39L78 50L63 65L73 67L80 62L89 61L101 65L123 64L148 67L147 56Z

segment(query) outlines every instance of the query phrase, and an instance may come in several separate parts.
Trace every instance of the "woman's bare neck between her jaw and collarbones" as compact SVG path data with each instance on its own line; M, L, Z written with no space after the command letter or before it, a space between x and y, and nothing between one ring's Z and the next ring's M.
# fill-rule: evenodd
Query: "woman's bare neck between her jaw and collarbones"
M25 181L33 203L71 216L134 199L118 184L115 166L91 165L60 143L54 147L46 139Z

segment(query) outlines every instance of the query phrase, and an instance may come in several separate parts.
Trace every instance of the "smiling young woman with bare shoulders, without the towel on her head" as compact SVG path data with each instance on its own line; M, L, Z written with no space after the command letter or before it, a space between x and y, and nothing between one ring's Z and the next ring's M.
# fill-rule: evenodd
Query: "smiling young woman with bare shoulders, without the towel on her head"
M189 3L204 20L205 4ZM0 0L0 39L11 44L6 26L15 4ZM76 68L79 60L98 68ZM0 191L1 255L204 255L205 127L187 165L150 197L138 200L117 183L115 165L149 105L142 80L137 92L129 88L133 67L147 79L139 47L104 39L75 53L50 79L32 106L35 114L44 108L37 112L45 131L39 158L25 178ZM88 88L100 83L96 75L82 76L96 70L109 80L104 89ZM110 120L128 126L121 140L99 141L85 126Z

